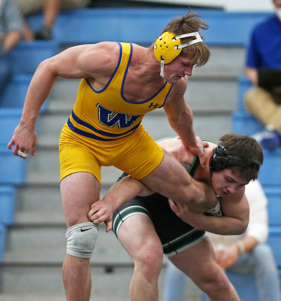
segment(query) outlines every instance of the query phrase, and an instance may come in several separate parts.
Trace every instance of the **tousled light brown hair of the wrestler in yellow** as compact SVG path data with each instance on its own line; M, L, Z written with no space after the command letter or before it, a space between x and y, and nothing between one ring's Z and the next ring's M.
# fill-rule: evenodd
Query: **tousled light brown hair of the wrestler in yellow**
M201 17L198 14L195 14L192 11L188 11L188 13L183 17L176 17L171 20L166 27L163 29L162 33L169 31L170 33L174 33L177 36L182 35L184 33L193 33L199 31L200 29L208 29L209 26L204 23L202 20L198 19ZM161 34L162 34L161 33ZM202 38L202 36L201 36ZM190 42L196 39L194 36L182 38L182 44ZM203 38L202 38L203 39ZM154 43L151 45L154 47ZM179 55L191 55L192 61L195 67L203 66L207 63L210 57L210 50L203 42L194 43L187 47L182 48L182 51Z

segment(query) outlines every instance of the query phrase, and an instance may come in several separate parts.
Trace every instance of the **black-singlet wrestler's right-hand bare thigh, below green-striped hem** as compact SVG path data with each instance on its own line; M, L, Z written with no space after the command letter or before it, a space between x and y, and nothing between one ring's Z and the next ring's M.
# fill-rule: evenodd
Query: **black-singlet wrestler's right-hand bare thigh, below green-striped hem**
M221 272L215 262L215 253L208 237L169 259L199 288L201 284L211 281L218 272Z

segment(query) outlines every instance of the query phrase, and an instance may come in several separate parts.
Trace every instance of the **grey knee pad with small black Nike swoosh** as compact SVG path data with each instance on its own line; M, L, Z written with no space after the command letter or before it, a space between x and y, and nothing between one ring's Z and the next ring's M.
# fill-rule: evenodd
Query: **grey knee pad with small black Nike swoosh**
M67 229L66 253L79 258L90 258L98 237L99 226L92 222L74 225Z

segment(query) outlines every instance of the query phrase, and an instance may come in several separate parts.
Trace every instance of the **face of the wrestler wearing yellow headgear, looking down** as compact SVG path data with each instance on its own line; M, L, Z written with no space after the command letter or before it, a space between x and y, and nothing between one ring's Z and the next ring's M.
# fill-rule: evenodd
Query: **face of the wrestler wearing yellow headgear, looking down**
M193 64L191 64L191 57L179 55L169 64L164 66L164 77L167 82L172 85L176 84L182 77L191 76Z

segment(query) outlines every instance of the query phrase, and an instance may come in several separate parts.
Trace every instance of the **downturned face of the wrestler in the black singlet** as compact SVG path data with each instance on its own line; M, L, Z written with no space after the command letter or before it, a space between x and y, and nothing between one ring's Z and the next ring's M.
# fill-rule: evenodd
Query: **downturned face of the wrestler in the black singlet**
M212 174L212 187L215 194L220 197L226 196L227 194L234 194L248 183L249 182L243 177L237 173L233 173L229 168L213 172Z

